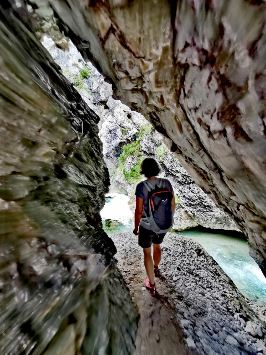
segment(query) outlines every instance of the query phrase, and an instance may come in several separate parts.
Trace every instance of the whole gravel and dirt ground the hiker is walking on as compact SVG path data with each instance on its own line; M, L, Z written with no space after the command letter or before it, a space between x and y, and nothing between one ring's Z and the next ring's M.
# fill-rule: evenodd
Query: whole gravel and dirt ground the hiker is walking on
M143 287L146 274L137 237L110 237L140 314L138 355L266 354L266 308L244 298L197 242L167 233L156 279L159 297L154 299Z

